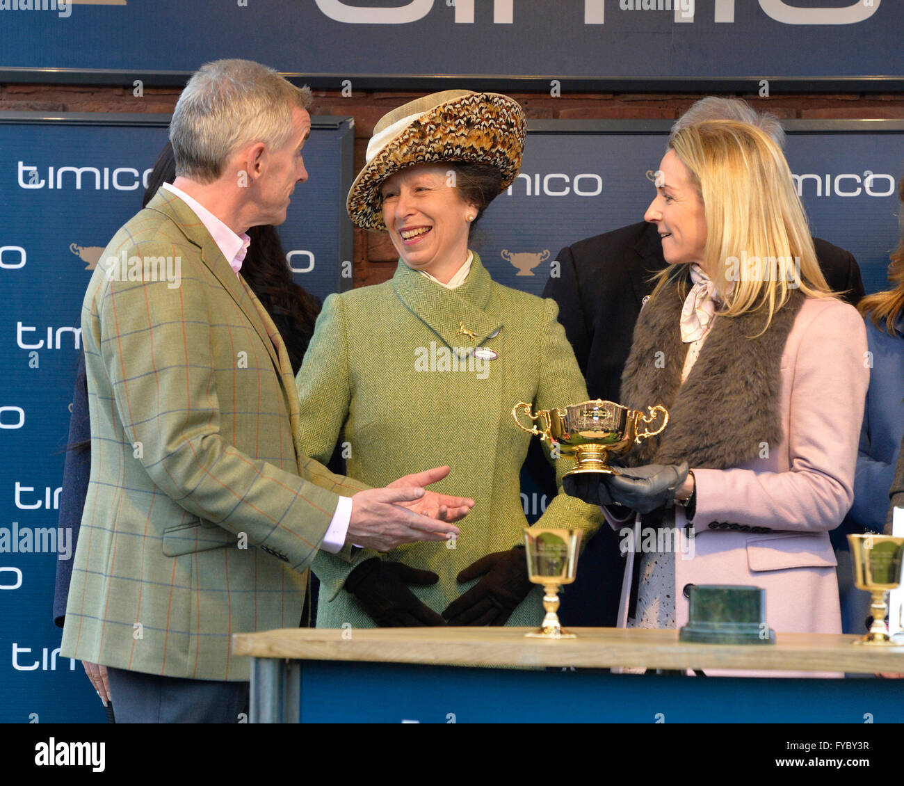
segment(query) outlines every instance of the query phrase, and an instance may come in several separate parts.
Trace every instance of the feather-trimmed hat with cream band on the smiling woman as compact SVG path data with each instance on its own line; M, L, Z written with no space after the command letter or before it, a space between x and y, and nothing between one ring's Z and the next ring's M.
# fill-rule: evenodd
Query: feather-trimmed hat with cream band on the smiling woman
M521 167L525 130L521 106L499 93L443 90L393 109L373 128L367 163L348 193L348 214L362 229L385 232L380 186L415 164L494 166L504 191Z

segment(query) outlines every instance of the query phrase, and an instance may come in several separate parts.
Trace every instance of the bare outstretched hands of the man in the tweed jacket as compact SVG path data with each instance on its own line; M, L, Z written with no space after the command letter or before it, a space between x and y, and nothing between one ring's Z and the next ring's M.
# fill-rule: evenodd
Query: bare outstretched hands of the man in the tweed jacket
M369 488L352 497L346 541L375 551L420 540L448 540L461 535L451 524L474 507L468 497L451 497L423 488L442 480L448 467L406 475L386 488Z

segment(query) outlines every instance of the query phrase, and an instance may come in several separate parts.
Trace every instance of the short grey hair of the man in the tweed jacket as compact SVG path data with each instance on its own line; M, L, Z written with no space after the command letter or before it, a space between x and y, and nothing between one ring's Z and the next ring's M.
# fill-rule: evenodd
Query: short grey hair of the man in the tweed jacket
M313 101L310 88L297 88L259 62L204 63L185 85L170 121L175 174L210 183L240 147L282 147L292 135L292 109L307 109Z

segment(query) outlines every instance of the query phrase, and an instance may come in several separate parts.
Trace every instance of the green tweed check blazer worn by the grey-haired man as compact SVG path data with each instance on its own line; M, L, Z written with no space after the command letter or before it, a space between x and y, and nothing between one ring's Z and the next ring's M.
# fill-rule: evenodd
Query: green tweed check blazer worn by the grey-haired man
M124 251L178 258L178 286L118 280L105 260ZM367 487L299 450L278 330L175 194L110 241L81 324L91 473L61 652L247 680L231 633L297 627L338 495Z

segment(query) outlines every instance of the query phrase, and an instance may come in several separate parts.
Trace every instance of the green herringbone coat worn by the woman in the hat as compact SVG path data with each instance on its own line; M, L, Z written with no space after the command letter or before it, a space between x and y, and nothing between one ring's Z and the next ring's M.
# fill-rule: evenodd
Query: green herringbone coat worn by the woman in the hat
M557 314L552 300L494 283L475 254L458 289L400 262L391 281L326 298L317 320L297 376L306 454L328 459L341 439L349 475L373 486L448 464L452 472L437 490L476 501L454 549L418 543L383 555L439 574L438 584L412 588L438 613L476 583L457 583L462 568L523 542L519 475L537 438L515 425L514 404L542 409L587 400ZM459 322L475 336L457 335ZM470 370L461 363L464 371L441 370L456 367L448 349L475 346L498 357L483 370L473 359ZM560 493L535 526L579 526L589 535L599 526L599 508L561 493L570 459L554 464ZM369 556L358 554L355 563ZM321 581L318 628L374 626L343 588L349 562L321 552L312 567ZM539 587L531 592L508 624L538 625L541 596Z

